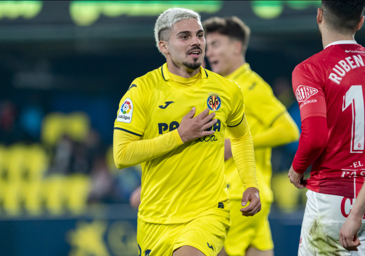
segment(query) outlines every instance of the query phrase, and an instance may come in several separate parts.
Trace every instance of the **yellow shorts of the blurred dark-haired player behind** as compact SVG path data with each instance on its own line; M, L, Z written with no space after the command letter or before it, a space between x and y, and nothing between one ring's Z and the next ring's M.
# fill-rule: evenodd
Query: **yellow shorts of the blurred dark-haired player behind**
M274 248L268 220L271 204L262 203L261 211L253 217L242 216L241 200L230 200L232 225L227 235L224 249L229 256L245 255L249 246L260 251Z

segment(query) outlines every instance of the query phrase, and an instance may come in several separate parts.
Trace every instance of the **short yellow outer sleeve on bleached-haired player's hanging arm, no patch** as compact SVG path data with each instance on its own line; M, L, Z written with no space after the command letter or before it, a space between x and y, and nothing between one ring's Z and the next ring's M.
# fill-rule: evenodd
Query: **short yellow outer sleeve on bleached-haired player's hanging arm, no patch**
M234 83L231 92L231 112L228 114L227 127L236 127L241 124L243 120L243 114L245 113L245 106L243 105L243 95L241 87L237 83L229 80L230 83Z

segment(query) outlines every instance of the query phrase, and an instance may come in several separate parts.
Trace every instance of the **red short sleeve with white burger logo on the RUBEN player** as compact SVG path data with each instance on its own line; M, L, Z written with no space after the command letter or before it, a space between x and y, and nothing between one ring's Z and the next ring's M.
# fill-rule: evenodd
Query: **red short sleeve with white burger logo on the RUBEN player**
M327 118L324 91L312 70L313 68L299 64L292 74L293 91L299 104L302 122L313 116Z

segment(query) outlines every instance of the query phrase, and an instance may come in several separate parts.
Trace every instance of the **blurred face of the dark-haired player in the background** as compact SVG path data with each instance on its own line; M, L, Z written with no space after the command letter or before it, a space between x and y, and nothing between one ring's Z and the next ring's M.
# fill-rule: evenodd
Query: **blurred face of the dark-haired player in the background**
M207 40L206 56L213 72L228 75L235 60L235 46L227 35L218 32L205 35Z

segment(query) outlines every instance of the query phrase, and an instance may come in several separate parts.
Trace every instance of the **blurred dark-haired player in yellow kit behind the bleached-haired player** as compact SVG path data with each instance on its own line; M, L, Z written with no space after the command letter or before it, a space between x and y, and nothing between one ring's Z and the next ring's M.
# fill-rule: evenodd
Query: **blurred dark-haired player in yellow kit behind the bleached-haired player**
M257 180L262 209L254 217L242 218L241 195L245 188L238 181L236 164L231 158L229 139L225 145L225 174L231 202L232 226L224 250L219 255L273 255L268 222L273 194L270 188L271 148L295 141L299 131L285 107L273 95L270 86L250 69L245 61L250 29L237 17L211 18L203 22L207 52L212 71L241 86L245 116L255 149Z

